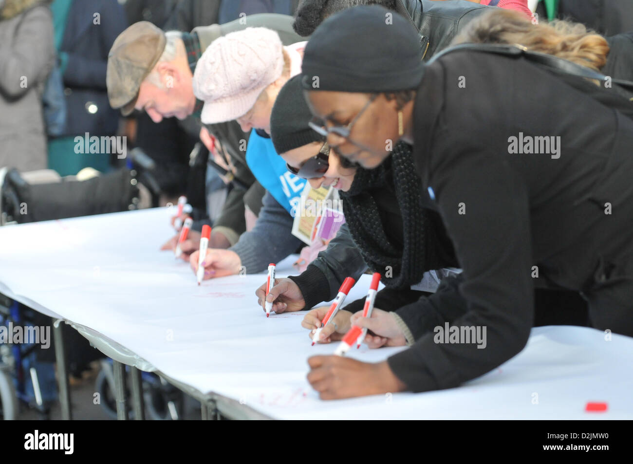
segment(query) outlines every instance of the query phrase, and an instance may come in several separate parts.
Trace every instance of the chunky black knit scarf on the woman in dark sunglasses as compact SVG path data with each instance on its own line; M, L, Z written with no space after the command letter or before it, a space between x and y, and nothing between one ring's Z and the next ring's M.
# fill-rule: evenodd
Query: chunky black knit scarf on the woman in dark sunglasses
M389 184L396 192L402 215L403 248L387 239L375 200L381 187L389 188ZM443 251L446 243L441 244L442 238L438 237L438 226L443 228L439 215L422 206L422 184L407 144L396 144L389 159L375 169L358 168L351 188L340 195L356 246L372 272L382 274L387 287L410 287L422 280L424 272L452 265Z

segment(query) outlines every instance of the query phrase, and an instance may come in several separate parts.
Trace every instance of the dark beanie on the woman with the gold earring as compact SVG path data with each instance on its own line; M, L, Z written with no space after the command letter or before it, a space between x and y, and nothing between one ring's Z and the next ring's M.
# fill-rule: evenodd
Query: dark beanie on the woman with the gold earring
M418 31L382 6L356 6L325 20L304 51L303 88L340 92L415 89L424 65Z

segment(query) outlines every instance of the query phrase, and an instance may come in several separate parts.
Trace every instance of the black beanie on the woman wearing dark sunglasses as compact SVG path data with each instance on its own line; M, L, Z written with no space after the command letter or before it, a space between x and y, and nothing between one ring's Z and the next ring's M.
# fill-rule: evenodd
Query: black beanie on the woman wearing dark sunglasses
M277 153L285 153L325 138L308 127L312 117L303 97L301 75L292 77L279 91L270 114L270 138Z

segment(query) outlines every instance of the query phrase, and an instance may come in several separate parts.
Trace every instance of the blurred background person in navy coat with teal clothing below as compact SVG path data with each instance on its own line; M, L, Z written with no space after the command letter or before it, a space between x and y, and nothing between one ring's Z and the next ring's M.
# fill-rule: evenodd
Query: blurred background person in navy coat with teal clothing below
M51 10L67 111L63 132L49 140L48 166L60 175L87 166L106 172L111 154L75 153L75 137L118 132L118 113L108 104L106 67L110 47L127 27L125 11L116 0L54 0Z

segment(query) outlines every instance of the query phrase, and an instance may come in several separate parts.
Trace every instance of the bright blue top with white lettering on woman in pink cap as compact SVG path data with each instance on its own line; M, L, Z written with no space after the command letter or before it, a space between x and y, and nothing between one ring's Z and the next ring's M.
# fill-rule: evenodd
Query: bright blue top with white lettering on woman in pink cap
M272 140L261 137L254 129L246 147L246 164L255 179L289 214L293 208L296 211L306 180L291 173L284 158L275 151Z

